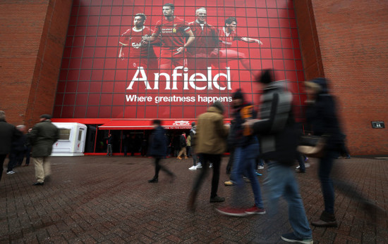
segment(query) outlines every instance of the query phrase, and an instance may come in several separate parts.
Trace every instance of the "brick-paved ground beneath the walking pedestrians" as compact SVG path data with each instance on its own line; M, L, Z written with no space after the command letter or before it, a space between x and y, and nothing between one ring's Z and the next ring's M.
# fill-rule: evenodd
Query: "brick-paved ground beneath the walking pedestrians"
M268 214L237 218L214 211L230 200L233 186L222 185L227 160L219 187L226 202L209 203L209 177L194 213L186 210L197 173L188 170L191 160L164 160L178 175L172 184L163 172L158 184L147 183L153 175L150 158L52 158L53 177L44 186L32 186L33 166L18 167L0 182L0 243L282 243L279 235L291 230L284 203L272 221ZM337 165L341 179L388 210L388 160L351 158ZM312 160L306 174L296 174L310 221L323 204L316 172ZM252 195L246 204L253 205ZM388 243L386 212L372 222L355 198L339 191L336 207L339 227L312 227L315 243Z

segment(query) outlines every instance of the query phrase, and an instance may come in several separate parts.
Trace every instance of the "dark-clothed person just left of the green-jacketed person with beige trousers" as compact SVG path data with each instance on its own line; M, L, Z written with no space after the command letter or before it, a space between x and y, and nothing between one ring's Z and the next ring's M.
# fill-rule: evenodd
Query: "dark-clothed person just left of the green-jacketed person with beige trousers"
M9 162L7 168L7 174L15 174L13 168L22 165L26 144L27 144L27 136L25 135L25 126L18 125L16 127L18 131L20 131L20 136L18 139L12 141L11 153L9 153Z

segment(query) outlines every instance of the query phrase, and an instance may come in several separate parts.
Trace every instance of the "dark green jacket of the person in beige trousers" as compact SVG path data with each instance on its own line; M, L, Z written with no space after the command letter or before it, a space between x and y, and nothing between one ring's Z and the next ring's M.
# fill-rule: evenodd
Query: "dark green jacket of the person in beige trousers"
M32 145L32 158L48 157L53 144L59 140L59 129L51 120L44 120L35 124L28 139Z

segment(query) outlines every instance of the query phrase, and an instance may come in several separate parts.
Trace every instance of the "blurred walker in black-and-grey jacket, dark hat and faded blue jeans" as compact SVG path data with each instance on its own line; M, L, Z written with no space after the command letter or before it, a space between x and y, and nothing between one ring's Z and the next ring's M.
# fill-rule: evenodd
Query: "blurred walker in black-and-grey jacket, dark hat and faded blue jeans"
M258 82L263 85L260 120L251 120L246 126L258 134L262 158L268 162L266 186L269 215L273 219L281 196L289 205L289 222L293 232L282 234L281 239L290 243L313 243L292 169L301 131L293 117L292 94L283 82L274 82L273 72L264 70L260 75Z

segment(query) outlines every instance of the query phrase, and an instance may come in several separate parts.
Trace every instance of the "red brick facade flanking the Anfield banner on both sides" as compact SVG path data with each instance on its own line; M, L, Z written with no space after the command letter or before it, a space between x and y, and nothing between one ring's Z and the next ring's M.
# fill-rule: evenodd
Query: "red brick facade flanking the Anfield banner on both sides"
M52 113L72 1L1 4L0 110L8 122ZM305 79L332 80L353 155L387 154L388 6L384 1L294 1Z

